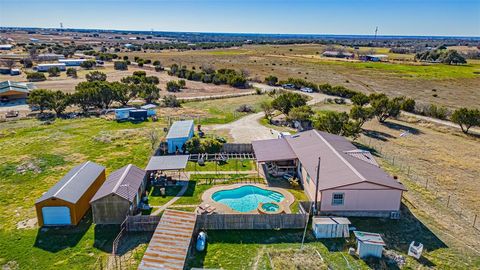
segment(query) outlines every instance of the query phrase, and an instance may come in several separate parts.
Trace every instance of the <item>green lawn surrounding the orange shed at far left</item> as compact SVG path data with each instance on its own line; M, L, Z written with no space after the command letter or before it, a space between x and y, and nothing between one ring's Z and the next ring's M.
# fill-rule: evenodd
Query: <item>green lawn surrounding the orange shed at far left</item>
M100 118L1 123L0 265L85 269L108 256L117 229L95 226L88 215L75 228L17 229L17 223L35 219L35 200L81 162L102 164L107 174L128 163L144 167L151 154L148 131L161 125Z

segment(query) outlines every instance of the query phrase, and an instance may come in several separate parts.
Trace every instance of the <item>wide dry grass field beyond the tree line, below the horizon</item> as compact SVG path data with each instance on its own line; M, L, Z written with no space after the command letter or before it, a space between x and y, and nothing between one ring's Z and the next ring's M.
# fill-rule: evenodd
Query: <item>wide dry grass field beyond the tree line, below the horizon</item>
M325 47L320 45L247 45L241 48L203 51L162 51L128 53L131 58L140 56L160 60L163 65L179 63L199 67L246 69L253 79L276 75L280 79L297 77L316 83L330 83L370 92L389 95L406 95L422 102L434 102L448 107L478 106L480 104L480 64L448 66L419 64L410 61L413 55L388 53L389 63L345 61L321 56ZM360 48L367 50L369 48ZM370 50L370 49L369 49ZM122 54L123 55L123 54ZM434 96L435 95L435 96Z

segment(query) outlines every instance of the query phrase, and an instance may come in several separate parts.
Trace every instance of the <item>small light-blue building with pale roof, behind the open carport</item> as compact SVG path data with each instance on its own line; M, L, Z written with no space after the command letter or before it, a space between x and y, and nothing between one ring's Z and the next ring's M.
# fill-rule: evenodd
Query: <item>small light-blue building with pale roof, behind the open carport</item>
M193 120L175 121L167 134L168 153L183 152L185 143L193 137Z

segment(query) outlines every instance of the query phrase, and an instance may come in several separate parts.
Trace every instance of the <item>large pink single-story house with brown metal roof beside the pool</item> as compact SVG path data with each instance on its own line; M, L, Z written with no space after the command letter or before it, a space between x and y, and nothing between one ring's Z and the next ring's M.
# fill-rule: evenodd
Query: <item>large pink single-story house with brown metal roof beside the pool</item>
M398 216L405 187L342 136L309 130L252 145L268 174L295 173L322 215Z

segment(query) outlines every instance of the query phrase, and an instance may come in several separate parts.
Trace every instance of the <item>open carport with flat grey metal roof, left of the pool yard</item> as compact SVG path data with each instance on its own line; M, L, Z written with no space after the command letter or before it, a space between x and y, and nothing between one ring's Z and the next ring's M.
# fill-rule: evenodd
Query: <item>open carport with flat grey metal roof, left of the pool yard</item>
M151 176L152 173L166 174L167 172L178 172L178 180L182 180L181 175L182 172L185 173L188 158L189 155L152 156L145 170L148 176ZM188 181L186 174L185 176L186 181Z

